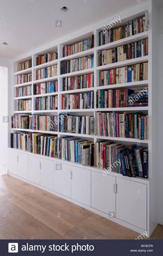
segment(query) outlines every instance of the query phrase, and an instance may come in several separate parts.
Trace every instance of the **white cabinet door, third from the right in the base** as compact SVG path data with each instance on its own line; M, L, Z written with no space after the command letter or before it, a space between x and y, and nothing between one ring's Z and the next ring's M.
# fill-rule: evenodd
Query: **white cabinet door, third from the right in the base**
M85 205L91 204L91 172L71 166L71 198Z

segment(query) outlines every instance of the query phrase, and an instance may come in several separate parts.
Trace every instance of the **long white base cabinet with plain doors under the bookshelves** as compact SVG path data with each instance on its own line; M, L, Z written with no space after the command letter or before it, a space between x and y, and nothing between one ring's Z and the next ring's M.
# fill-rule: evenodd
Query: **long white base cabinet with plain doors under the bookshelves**
M9 149L8 174L138 233L147 232L148 180ZM25 160L26 159L26 160ZM21 167L26 163L26 175Z

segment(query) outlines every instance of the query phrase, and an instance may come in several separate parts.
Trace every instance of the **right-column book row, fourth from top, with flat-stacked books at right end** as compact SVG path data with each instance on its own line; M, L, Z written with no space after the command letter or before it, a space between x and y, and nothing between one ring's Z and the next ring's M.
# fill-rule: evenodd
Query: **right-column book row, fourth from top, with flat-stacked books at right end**
M126 106L148 106L148 88L139 90L97 90L97 108L119 108Z

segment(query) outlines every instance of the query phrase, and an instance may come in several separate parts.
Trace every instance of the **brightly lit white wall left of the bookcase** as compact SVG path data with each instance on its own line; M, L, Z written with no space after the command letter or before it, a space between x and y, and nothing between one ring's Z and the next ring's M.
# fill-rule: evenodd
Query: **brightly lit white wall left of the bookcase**
M8 128L10 129L10 116L8 116L8 90L12 84L11 62L0 58L0 174L8 170ZM9 122L3 122L3 116Z

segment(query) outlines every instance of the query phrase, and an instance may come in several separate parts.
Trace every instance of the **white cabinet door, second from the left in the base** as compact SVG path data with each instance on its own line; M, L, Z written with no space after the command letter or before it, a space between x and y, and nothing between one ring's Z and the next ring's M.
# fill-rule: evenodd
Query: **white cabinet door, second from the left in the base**
M19 153L18 157L18 174L24 179L28 179L28 154Z

